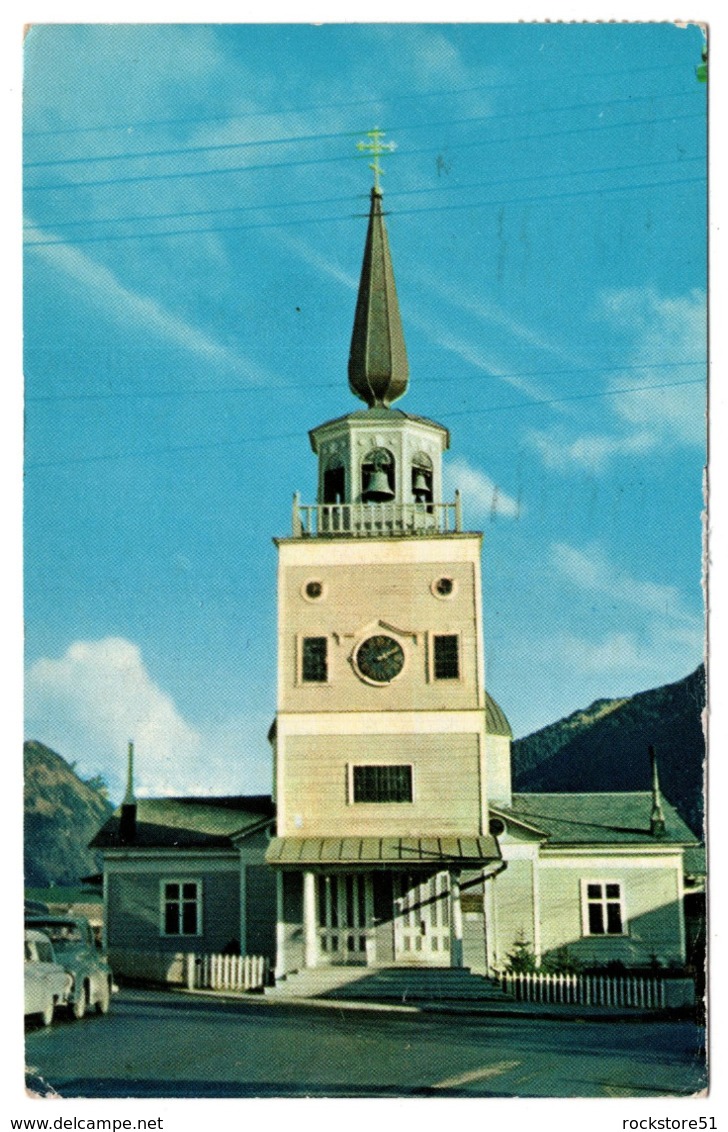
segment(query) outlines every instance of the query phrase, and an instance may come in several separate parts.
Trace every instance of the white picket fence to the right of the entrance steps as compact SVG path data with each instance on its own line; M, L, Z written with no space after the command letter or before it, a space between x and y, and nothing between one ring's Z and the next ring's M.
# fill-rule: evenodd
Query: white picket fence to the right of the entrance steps
M498 981L519 1002L579 1003L584 1006L633 1006L660 1010L665 981L649 975L549 975L504 971Z

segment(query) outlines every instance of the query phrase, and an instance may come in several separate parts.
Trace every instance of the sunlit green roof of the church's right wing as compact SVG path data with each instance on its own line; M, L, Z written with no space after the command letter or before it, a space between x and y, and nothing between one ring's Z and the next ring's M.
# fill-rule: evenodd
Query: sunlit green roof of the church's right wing
M650 833L652 794L514 794L512 805L491 814L522 821L541 831L549 846L697 846L677 811L662 798L665 837Z

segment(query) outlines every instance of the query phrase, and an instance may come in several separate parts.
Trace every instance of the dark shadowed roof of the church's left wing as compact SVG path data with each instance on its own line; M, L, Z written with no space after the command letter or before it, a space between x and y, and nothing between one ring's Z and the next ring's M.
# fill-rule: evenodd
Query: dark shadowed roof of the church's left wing
M232 848L245 835L275 815L269 795L224 798L139 798L137 848ZM119 807L91 842L94 849L131 848L119 834Z

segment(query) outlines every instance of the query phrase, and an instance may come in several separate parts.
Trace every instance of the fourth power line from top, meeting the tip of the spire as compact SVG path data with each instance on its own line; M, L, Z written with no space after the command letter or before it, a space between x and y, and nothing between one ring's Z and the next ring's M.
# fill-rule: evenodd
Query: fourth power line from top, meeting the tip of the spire
M684 165L690 162L701 161L704 162L704 155L700 157L669 157L663 161L641 161L635 162L632 165L602 165L597 169L581 169L581 170L568 170L567 172L558 173L529 173L525 177L503 177L497 178L491 181L465 181L457 185L442 185L430 186L428 188L420 189L396 189L392 192L387 192L387 198L399 199L400 197L411 197L411 196L422 196L432 192L462 192L466 189L487 189L498 185L522 185L528 181L553 181L563 180L565 178L580 178L580 177L596 177L602 173L622 173L629 172L635 169L656 169L663 165ZM361 194L361 199L368 199L368 194ZM100 216L100 217L86 217L84 220L71 220L71 221L52 221L51 224L54 229L59 228L87 228L89 224L131 224L138 222L154 221L154 220L185 220L196 216L220 216L224 213L241 213L241 212L262 212L264 209L280 209L280 208L305 208L305 207L318 207L319 205L331 205L331 204L346 204L351 200L351 196L346 197L317 197L311 200L279 200L272 201L269 204L262 205L232 205L228 208L198 208L194 212L170 212L170 213L147 213L146 215L137 216ZM24 231L32 231L37 228L43 228L43 221L35 221L29 224L24 224Z

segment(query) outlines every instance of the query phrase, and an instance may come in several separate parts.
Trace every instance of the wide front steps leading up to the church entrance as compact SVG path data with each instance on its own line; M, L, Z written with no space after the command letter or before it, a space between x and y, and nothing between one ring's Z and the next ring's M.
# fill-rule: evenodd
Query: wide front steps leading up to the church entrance
M464 967L317 967L284 976L266 995L399 1005L513 1001L497 984Z

